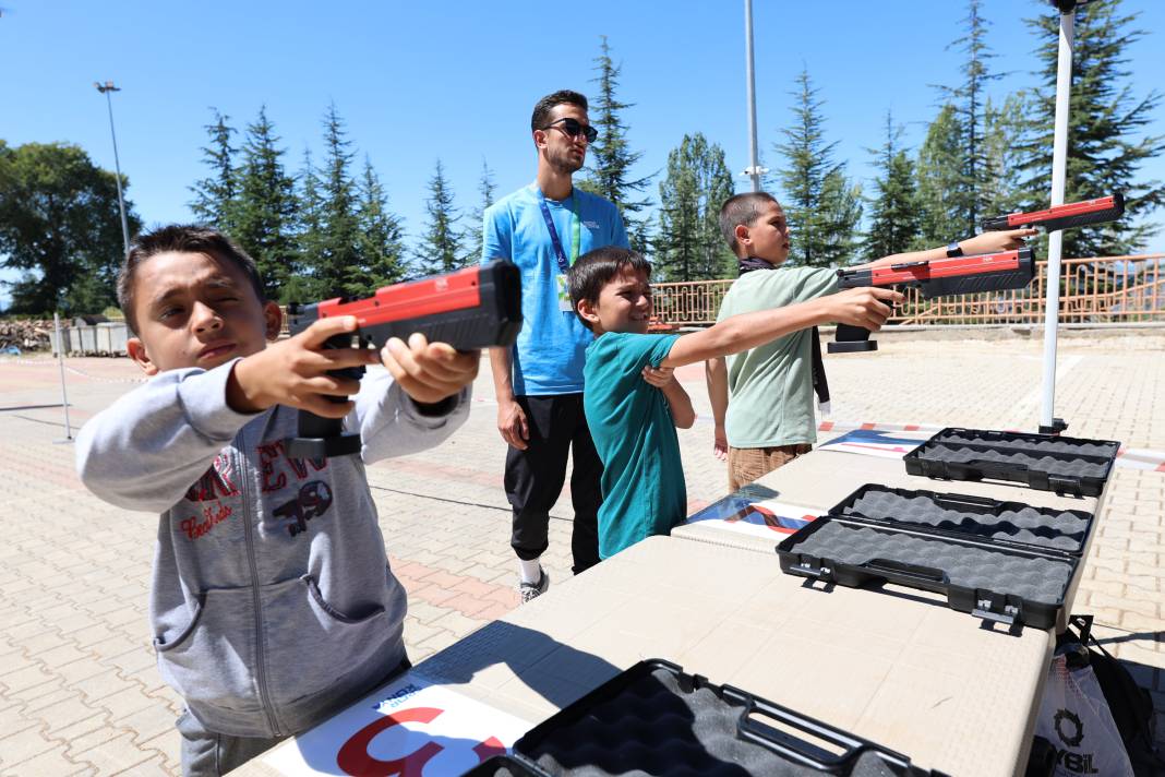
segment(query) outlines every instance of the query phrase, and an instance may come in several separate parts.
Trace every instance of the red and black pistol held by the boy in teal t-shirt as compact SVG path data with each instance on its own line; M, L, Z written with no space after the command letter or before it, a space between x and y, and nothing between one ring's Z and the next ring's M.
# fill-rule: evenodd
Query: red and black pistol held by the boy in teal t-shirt
M889 267L838 270L838 285L842 289L861 287L918 287L925 299L953 297L981 291L1022 289L1036 271L1031 248L1004 250L998 254L956 256L922 262L903 262ZM829 353L877 351L869 330L849 324L838 324Z

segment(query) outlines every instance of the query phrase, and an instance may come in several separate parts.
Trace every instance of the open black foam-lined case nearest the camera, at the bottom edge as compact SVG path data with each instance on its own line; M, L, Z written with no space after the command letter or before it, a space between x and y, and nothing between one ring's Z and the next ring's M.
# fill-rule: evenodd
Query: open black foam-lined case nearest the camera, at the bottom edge
M528 732L514 750L542 774L574 777L941 777L892 750L659 659L612 678Z

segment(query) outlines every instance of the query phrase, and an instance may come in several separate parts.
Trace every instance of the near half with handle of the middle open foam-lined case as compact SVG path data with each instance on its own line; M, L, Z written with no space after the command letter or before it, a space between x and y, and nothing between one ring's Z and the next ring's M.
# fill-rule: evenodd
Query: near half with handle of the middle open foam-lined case
M821 517L777 545L788 574L859 587L899 585L946 594L952 609L1004 624L1058 626L1080 559L953 532Z

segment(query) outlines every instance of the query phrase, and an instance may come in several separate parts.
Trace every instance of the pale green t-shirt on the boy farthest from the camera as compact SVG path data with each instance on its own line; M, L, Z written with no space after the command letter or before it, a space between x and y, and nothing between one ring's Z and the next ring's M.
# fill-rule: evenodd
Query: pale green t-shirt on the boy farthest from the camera
M729 316L784 308L838 291L835 270L789 267L740 276L720 305ZM728 356L728 416L733 447L771 447L817 442L810 337L800 330Z

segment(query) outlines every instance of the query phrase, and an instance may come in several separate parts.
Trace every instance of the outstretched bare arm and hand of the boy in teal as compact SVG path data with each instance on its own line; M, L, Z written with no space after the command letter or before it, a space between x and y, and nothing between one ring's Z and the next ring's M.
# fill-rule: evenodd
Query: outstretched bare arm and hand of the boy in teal
M890 317L890 305L903 296L891 289L847 289L810 302L742 313L715 326L676 340L663 367L683 367L715 356L726 356L776 340L791 332L836 322L876 332Z

